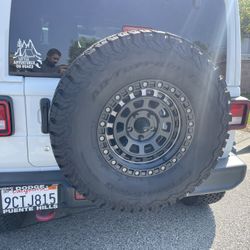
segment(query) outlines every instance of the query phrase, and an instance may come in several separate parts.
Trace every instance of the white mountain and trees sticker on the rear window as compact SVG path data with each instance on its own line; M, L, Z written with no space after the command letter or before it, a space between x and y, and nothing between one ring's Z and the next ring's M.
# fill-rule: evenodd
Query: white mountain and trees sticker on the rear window
M27 43L25 40L18 39L17 51L13 59L17 69L40 69L42 65L41 53L36 50L31 39Z

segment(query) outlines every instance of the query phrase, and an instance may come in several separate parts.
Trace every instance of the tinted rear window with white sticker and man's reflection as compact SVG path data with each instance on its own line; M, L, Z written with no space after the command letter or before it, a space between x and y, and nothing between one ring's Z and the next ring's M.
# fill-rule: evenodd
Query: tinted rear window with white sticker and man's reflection
M224 0L12 0L9 73L60 77L86 48L131 26L182 36L225 71Z

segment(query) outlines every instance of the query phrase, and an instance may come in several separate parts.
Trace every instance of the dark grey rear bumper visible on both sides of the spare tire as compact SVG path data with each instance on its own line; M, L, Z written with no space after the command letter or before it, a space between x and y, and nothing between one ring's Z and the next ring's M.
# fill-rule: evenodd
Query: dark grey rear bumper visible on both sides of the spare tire
M194 192L188 196L218 193L233 189L239 185L246 175L246 164L236 155L220 159L211 175ZM76 201L74 188L66 181L59 170L35 172L2 172L0 173L0 187L32 185L32 184L59 184L60 207L78 207L90 205L87 200Z

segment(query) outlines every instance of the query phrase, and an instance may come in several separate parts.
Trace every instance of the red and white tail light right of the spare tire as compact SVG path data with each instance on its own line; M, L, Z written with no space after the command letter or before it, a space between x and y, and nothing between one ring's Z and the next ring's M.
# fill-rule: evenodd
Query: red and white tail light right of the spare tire
M229 123L229 129L243 129L247 126L250 101L234 100L231 103L232 121Z

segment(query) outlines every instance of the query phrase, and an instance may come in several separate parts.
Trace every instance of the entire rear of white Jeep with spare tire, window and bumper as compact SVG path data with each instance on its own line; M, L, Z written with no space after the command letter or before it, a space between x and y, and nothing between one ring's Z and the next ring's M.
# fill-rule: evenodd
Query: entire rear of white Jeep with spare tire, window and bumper
M0 230L90 203L209 204L242 182L237 1L8 0L0 12Z

